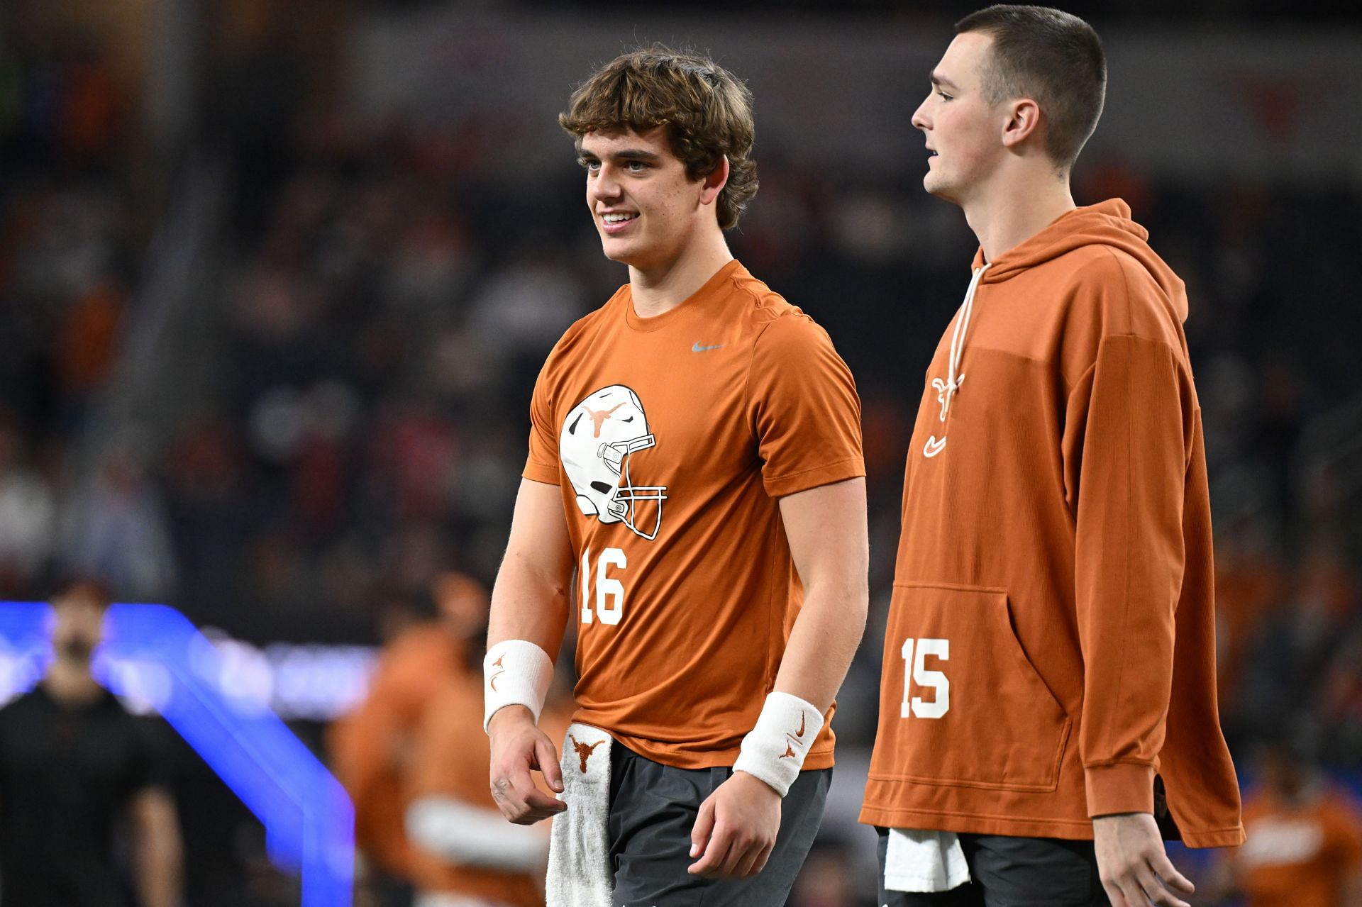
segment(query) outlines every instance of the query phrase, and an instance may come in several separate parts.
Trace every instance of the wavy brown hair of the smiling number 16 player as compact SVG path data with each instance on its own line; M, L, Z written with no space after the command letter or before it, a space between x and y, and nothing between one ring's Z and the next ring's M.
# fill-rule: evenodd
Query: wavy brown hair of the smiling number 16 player
M617 57L572 93L558 125L579 140L588 132L643 133L666 127L686 177L700 180L729 158L719 192L719 227L731 230L757 193L752 159L752 91L706 56L655 44Z

